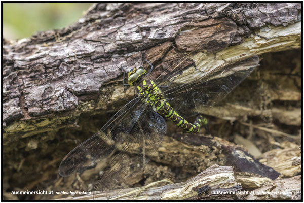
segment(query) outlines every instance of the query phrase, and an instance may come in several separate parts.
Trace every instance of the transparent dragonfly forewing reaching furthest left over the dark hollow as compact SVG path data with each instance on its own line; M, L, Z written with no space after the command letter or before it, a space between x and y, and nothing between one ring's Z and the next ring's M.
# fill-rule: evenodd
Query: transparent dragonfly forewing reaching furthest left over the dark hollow
M145 108L146 105L138 97L126 104L94 136L75 147L62 159L59 174L69 176L75 172L81 173L107 158L115 150L115 142L123 139L115 136L112 131L131 131Z

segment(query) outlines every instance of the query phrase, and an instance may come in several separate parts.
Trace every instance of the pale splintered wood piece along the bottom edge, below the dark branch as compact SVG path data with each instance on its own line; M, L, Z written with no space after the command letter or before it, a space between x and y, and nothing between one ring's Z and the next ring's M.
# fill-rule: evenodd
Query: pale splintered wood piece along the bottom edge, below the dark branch
M142 189L142 190L138 190ZM204 189L204 190L203 190ZM231 166L213 165L186 182L153 188L129 188L101 192L96 200L182 200L182 199L233 199L233 195L218 195L219 192L236 192L242 186L235 182ZM89 200L92 195L68 197L60 200Z

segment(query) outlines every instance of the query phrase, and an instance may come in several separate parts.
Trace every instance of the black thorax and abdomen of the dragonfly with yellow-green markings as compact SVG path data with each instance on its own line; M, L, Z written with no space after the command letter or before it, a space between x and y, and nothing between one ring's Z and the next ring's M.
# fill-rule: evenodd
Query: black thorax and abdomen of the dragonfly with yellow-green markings
M202 125L207 124L207 120L199 115L194 124L189 123L180 116L166 99L162 98L162 93L155 83L151 80L143 80L138 86L138 93L143 102L150 106L155 106L156 111L165 118L172 120L178 127L186 132L199 132Z

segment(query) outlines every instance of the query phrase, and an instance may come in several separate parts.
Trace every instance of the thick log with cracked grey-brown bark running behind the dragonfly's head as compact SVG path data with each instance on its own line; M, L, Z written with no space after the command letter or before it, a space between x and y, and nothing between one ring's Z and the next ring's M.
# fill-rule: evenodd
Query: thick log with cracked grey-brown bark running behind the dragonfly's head
M264 16L259 11L265 7L263 4L237 5L239 9L231 4L95 5L70 27L39 32L13 45L6 43L4 121L11 122L5 127L5 138L16 133L27 137L63 127L67 120L83 112L105 110L120 98L130 97L131 93L121 92L123 88L110 85L115 91L105 91L109 95L104 101L100 89L121 81L121 66L131 69L141 65L142 51L146 50L146 59L153 64L170 50L174 52L170 40L182 51L196 48L216 53L213 61L214 54L200 56L205 63L213 63L205 66L207 70L235 56L300 48L300 4L267 6L268 15ZM161 15L162 12L167 15ZM274 13L277 16L272 16ZM131 14L135 17L131 18ZM236 19L225 17L229 15ZM266 23L277 27L265 28ZM250 35L253 32L271 39ZM198 42L200 46L196 47ZM229 48L222 50L226 47ZM227 53L231 56L224 56ZM163 60L172 60L172 55L167 57ZM38 123L34 122L37 120ZM12 121L17 123L13 126Z

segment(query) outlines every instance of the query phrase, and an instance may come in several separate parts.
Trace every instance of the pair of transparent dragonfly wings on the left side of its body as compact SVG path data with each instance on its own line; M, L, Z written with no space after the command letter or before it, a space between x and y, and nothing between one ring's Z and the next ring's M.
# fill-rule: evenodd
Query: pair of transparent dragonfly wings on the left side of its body
M95 191L116 189L118 183L130 183L132 177L142 171L165 133L165 120L137 97L94 136L69 152L60 163L59 174L69 176L74 172L81 173L104 162L117 150L118 153L114 154L100 177Z

